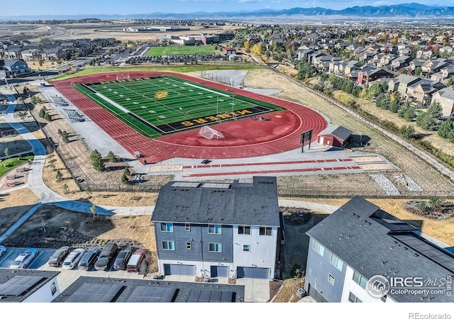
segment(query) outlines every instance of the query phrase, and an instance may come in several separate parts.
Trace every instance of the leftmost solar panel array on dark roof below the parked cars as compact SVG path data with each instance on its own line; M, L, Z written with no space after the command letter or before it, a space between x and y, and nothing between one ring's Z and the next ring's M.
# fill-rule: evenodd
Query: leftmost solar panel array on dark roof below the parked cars
M72 295L67 298L67 303L109 303L114 300L121 285L109 284L82 284Z

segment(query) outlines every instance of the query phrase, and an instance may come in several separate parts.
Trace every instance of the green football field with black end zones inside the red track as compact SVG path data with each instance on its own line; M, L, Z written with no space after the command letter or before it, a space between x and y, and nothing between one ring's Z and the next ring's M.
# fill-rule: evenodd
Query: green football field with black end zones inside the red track
M270 103L167 75L77 84L76 87L149 138L282 110Z

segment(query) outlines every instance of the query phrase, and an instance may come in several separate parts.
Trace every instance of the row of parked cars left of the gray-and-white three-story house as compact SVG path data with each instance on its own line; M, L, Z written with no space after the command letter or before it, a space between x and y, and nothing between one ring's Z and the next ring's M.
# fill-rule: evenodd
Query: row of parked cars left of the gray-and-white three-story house
M0 246L0 256L6 250ZM145 259L146 251L143 249L134 250L131 247L124 247L118 252L119 248L115 242L108 242L102 250L92 247L89 250L77 248L71 250L69 246L60 247L49 258L48 265L51 267L62 266L63 269L89 270L94 267L96 270L109 270L111 261L115 258L115 270L127 270L128 272L138 272L140 264ZM118 252L118 255L117 255ZM38 250L29 248L22 252L14 259L10 268L25 269L31 264L31 261L38 255Z

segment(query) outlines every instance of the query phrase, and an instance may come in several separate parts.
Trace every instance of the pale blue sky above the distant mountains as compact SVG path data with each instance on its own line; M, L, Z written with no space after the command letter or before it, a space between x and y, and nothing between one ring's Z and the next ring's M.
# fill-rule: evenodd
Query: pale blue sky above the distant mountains
M351 6L380 6L417 2L426 5L454 6L452 0L1 0L0 18L6 16L192 13L196 11L254 11L294 7L345 9Z

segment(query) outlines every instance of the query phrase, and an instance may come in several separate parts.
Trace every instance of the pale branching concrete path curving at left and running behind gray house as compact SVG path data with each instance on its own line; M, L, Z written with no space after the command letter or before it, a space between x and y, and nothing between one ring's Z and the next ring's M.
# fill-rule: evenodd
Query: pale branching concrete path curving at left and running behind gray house
M7 237L9 237L14 231L16 231L23 223L30 218L38 209L44 205L55 205L61 208L66 208L71 211L77 211L80 213L92 213L91 209L92 204L82 203L79 201L70 200L49 189L43 181L43 169L45 164L45 147L44 145L35 138L35 135L30 133L23 125L16 121L14 118L14 110L16 108L16 99L13 95L4 93L10 101L8 108L4 111L4 119L11 127L13 127L22 138L26 140L32 147L32 152L35 157L31 163L31 170L28 172L28 183L8 189L6 191L1 191L0 194L6 194L11 191L16 191L18 189L23 189L24 187L29 187L39 198L39 203L29 209L21 218L19 218L16 223L11 225L11 227L6 230L5 233L0 235L0 243L4 242ZM279 201L279 206L292 206L292 207L304 207L308 209L314 209L317 211L326 211L332 213L336 210L335 206L309 203L303 201ZM111 216L111 215L121 215L121 216L130 216L130 215L151 215L153 213L155 206L139 206L139 207L116 207L116 206L96 206L96 214Z

